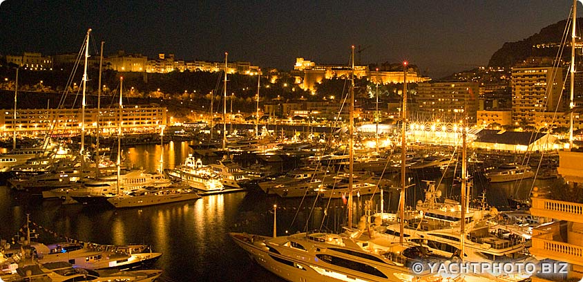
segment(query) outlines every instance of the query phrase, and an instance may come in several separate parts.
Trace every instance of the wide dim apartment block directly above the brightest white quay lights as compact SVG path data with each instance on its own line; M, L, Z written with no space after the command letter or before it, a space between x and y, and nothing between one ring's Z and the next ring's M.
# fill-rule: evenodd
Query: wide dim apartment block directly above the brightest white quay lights
M421 120L476 123L479 106L477 82L423 82L417 84L417 106L411 111Z

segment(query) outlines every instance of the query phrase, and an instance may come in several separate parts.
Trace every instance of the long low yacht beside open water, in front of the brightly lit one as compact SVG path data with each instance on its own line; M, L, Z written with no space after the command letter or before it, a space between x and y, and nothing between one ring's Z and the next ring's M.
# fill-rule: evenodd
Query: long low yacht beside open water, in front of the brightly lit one
M202 198L191 187L186 185L170 186L162 189L140 189L129 194L108 198L107 201L114 207L146 207L167 203L196 200Z

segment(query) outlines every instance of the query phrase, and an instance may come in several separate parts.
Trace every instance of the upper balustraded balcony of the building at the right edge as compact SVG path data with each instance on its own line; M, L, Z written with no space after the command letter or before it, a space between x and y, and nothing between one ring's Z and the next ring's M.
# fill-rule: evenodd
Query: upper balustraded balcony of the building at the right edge
M583 204L535 197L532 200L531 214L533 216L583 223Z

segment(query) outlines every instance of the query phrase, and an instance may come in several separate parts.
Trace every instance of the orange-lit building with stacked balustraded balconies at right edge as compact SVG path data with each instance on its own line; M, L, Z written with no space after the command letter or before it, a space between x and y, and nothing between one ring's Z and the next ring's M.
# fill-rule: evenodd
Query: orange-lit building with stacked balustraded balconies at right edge
M572 194L582 189L583 152L559 151L558 172ZM571 193L570 193L571 194ZM552 196L552 195L551 195ZM571 196L571 195L570 195ZM575 199L575 196L572 196ZM583 277L583 203L575 200L553 200L537 191L533 193L531 214L539 218L553 218L555 223L533 229L534 256L568 263L568 274L531 277L533 282L579 281Z

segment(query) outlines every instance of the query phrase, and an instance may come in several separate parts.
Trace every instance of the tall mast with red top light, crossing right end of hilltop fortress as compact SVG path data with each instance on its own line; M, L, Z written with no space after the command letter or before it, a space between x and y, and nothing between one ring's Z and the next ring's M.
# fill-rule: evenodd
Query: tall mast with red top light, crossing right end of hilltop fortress
M403 110L401 111L401 193L399 194L399 243L403 244L405 232L405 157L407 155L407 62L403 62Z

